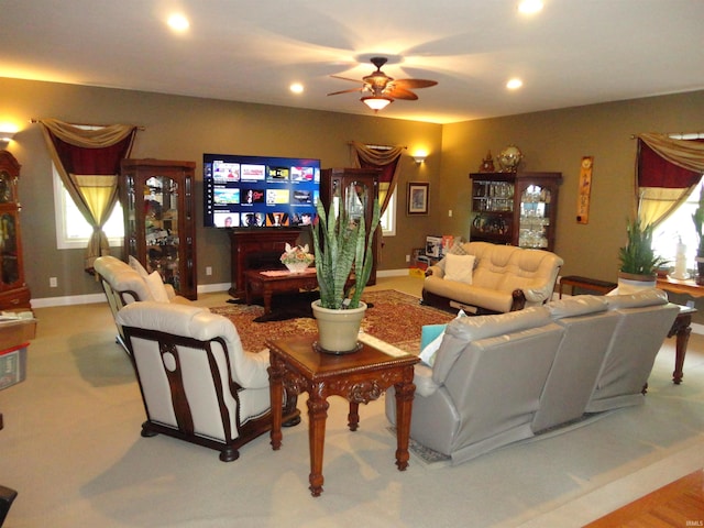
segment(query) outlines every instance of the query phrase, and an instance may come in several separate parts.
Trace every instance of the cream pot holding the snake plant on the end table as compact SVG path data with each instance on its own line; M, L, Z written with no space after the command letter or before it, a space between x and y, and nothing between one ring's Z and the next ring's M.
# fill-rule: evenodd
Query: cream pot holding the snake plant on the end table
M318 324L317 350L328 354L350 354L361 349L358 337L366 304L360 301L359 308L346 310L323 308L320 300L310 306Z

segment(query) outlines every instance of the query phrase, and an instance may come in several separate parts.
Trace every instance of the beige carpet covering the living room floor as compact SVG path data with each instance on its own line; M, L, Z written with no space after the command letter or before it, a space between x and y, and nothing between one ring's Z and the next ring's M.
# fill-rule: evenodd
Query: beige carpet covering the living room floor
M0 483L20 492L3 528L582 526L704 466L700 336L682 385L670 381L669 341L645 405L454 468L411 459L397 471L384 403L363 406L352 433L345 403L331 398L324 492L314 498L305 397L280 451L261 437L226 464L205 448L140 437L139 388L106 306L37 316L30 375L0 391Z

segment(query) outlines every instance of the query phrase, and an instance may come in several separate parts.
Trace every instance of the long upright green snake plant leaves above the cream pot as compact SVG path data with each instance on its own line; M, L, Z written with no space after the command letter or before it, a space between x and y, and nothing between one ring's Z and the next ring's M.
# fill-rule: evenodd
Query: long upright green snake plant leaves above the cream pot
M333 207L326 211L320 200L316 207L318 218L312 228L312 241L320 306L332 310L359 308L374 265L372 244L380 220L378 200L374 200L374 213L369 231L365 229L364 216L355 221L344 208L340 208L338 217ZM345 289L352 266L353 290Z

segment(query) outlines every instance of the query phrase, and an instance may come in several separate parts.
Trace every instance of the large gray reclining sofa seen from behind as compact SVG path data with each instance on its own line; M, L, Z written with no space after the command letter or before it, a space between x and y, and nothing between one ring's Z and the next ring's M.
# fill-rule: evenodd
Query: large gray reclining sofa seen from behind
M651 289L455 319L416 366L410 437L457 464L586 413L641 404L678 314ZM393 389L386 402L395 424Z

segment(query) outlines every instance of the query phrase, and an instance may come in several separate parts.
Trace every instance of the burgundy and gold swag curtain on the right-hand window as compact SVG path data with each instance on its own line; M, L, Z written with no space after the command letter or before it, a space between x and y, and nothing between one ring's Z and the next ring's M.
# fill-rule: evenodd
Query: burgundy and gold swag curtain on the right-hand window
M642 133L636 158L638 217L658 226L690 196L704 174L704 142Z

